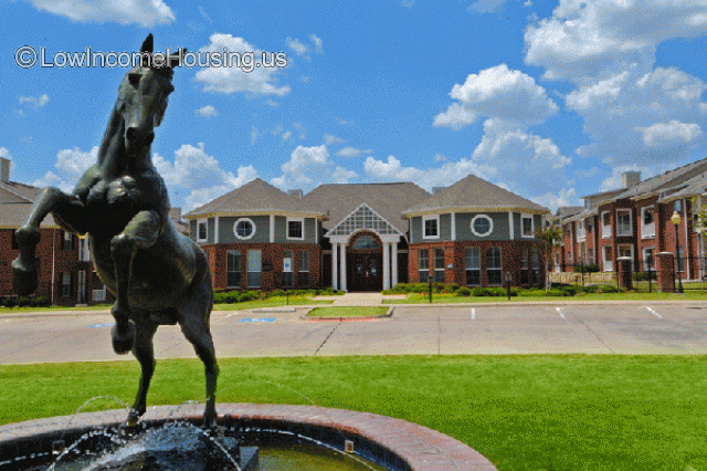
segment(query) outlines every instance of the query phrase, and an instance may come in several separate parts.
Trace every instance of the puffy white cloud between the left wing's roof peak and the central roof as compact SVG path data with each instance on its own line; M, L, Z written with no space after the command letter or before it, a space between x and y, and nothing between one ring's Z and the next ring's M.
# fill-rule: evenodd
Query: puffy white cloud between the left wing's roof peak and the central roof
M309 190L325 182L346 184L358 177L352 170L337 167L329 159L326 145L315 147L297 146L288 161L281 167L283 175L271 184L282 189L300 188Z

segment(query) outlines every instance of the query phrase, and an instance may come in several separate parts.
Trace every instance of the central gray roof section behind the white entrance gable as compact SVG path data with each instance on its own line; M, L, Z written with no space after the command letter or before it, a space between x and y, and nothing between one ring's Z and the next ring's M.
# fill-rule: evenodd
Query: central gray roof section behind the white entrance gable
M362 203L368 205L401 233L408 221L400 214L430 193L411 182L399 184L328 184L320 185L302 199L304 203L328 213L324 228L330 230Z

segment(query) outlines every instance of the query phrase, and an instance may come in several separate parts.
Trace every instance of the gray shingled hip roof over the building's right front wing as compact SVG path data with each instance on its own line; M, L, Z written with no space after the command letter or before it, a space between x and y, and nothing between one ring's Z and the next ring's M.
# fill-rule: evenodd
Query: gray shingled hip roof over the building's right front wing
M468 175L456 184L437 191L426 200L402 212L404 217L450 210L525 210L546 213L549 209L518 195Z

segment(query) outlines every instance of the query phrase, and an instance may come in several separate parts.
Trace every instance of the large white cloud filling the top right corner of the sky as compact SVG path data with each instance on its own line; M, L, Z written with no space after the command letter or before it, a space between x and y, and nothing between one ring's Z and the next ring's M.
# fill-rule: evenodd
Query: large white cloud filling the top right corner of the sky
M701 0L561 0L551 18L526 30L525 60L547 78L582 82L630 64L650 69L659 43L705 33Z

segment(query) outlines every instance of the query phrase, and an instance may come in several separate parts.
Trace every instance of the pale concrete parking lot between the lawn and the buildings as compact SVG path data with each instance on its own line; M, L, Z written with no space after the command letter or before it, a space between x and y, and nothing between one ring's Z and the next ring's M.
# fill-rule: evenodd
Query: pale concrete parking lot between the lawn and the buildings
M449 354L707 354L707 304L399 306L388 318L312 321L304 308L218 311L220 357ZM110 347L108 312L0 317L0 364L133 359ZM192 358L161 326L157 358Z

